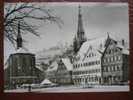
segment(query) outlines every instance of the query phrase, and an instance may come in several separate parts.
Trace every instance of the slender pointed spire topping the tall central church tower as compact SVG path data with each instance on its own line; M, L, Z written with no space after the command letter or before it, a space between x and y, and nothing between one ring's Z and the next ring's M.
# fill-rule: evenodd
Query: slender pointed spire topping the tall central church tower
M81 15L81 6L79 5L79 12L78 12L78 34L84 33L83 23L82 23L82 15Z

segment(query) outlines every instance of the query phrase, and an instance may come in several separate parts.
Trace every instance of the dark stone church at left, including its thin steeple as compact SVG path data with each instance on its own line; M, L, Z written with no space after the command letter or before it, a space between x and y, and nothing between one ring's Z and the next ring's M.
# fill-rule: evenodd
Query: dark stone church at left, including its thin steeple
M40 70L35 66L35 54L23 48L23 39L18 24L17 50L10 54L4 69L5 88L12 89L22 84L39 82Z

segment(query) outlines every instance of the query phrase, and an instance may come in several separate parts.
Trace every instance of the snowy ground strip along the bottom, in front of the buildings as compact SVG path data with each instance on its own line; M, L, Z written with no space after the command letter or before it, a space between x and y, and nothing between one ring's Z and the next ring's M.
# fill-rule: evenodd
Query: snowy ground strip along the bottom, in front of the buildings
M69 93L69 92L124 92L129 91L129 86L95 86L93 88L83 88L76 86L63 86L32 89L31 92L39 93ZM5 92L28 92L28 89L5 90Z

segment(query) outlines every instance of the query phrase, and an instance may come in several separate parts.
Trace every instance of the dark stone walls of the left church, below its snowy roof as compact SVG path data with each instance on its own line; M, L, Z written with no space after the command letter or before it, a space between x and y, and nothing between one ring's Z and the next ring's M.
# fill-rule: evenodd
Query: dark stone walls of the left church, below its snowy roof
M37 69L35 68L35 55L15 53L9 57L8 67L5 72L6 85L9 88L16 88L22 84L36 83Z

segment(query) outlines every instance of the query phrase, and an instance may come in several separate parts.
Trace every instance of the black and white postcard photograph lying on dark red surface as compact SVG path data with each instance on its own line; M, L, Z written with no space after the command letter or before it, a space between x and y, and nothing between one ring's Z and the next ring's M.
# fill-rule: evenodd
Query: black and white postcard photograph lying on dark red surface
M4 92L130 91L128 3L4 3Z

